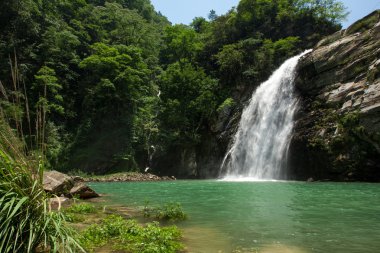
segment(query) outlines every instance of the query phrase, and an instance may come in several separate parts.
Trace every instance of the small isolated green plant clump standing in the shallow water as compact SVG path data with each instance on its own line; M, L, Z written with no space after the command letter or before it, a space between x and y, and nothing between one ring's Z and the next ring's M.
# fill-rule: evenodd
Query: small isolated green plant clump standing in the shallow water
M167 203L161 207L149 207L145 205L144 216L159 220L179 221L186 220L187 214L183 211L180 203Z

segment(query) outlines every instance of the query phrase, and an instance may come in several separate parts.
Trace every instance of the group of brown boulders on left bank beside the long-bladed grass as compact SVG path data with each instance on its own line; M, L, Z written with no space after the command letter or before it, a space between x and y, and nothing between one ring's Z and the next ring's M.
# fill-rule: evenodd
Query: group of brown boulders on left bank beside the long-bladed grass
M66 197L78 196L81 199L95 198L99 195L90 187L78 180L58 171L44 172L43 187L46 192Z

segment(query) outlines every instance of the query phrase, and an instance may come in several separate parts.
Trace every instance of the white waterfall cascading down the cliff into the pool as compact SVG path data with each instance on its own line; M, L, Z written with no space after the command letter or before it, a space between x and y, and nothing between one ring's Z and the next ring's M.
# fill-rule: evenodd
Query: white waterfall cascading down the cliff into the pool
M285 61L253 93L221 166L225 179L286 179L283 168L297 108L295 69L298 60L310 51Z

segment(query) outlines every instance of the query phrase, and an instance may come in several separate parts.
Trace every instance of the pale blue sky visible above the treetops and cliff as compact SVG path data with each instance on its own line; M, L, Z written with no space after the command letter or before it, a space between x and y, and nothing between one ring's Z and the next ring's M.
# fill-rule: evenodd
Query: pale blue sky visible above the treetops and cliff
M194 17L207 17L210 10L217 14L226 13L236 6L239 0L151 0L157 11L174 23L189 24ZM342 0L350 12L343 23L346 28L356 20L364 17L375 9L380 9L380 0Z

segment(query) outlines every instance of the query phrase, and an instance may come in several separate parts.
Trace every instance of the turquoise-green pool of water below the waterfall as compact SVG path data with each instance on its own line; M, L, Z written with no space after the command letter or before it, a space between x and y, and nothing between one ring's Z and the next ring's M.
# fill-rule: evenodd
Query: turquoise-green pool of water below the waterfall
M380 185L170 181L92 183L127 206L180 202L189 252L380 252ZM255 252L254 251L254 252Z

